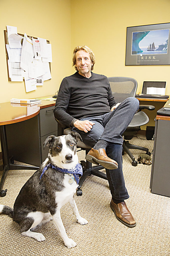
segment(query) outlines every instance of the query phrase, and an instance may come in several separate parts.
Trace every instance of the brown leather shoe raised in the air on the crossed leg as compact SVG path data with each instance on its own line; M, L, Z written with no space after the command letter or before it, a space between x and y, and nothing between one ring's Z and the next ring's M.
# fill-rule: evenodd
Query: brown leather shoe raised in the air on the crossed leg
M89 162L93 164L101 164L107 169L117 169L118 163L106 155L106 151L103 148L91 149L85 157Z

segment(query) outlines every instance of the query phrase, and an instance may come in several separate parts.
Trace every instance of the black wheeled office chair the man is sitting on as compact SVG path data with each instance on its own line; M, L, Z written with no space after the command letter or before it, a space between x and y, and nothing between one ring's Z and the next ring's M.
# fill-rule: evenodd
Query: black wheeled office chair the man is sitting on
M60 135L67 135L68 133L71 132L71 128L66 127L64 124L62 124L61 122L59 122L56 118L55 120L58 123L58 130L57 130L57 134L58 136ZM80 148L80 150L85 150L86 151L86 155L87 153L91 150L91 147L84 144L81 141L78 141L77 143L77 148ZM83 184L83 182L86 180L86 178L88 176L90 176L91 174L97 177L100 177L102 179L106 179L107 180L107 176L105 173L100 172L99 170L104 169L103 166L101 165L94 165L92 166L92 163L90 163L89 161L80 161L81 166L83 168L83 175L81 176L80 180L79 180L79 185L78 185L78 189L77 189L77 196L82 196L82 190L81 190L81 186Z

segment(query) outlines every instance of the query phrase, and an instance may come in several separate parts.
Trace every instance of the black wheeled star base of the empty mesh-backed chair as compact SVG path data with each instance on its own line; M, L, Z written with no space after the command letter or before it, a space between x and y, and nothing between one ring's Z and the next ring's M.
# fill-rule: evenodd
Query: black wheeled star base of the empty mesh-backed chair
M133 144L130 144L129 141L123 141L123 151L122 151L122 155L124 155L124 152L126 152L131 160L132 160L132 165L133 166L136 166L138 164L138 162L135 160L135 157L132 155L132 153L130 152L129 149L139 149L139 150L143 150L143 151L146 151L146 154L150 155L150 152L149 152L149 149L146 148L146 147L140 147L140 146L137 146L137 145L133 145Z

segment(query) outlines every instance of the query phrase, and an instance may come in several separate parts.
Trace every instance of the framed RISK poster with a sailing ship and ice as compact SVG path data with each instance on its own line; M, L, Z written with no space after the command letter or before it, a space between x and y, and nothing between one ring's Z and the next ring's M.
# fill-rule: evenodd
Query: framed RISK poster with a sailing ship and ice
M170 23L127 27L125 65L170 65Z

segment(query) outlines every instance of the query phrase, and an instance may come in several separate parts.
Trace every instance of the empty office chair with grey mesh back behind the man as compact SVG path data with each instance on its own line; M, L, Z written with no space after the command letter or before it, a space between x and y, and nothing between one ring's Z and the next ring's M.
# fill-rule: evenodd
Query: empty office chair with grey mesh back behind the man
M109 77L108 81L110 83L116 103L122 102L128 97L135 97L138 87L138 83L135 79L129 77ZM122 155L124 155L124 152L126 152L130 156L132 160L132 166L137 166L138 162L135 160L135 157L132 155L129 149L143 150L146 151L146 154L148 154L149 156L151 155L148 148L133 145L130 144L129 141L126 141L131 140L133 135L141 130L141 125L147 124L149 122L147 114L141 111L143 109L154 110L155 107L152 105L139 105L139 110L137 111L137 113L135 113L131 123L122 134L124 138Z

